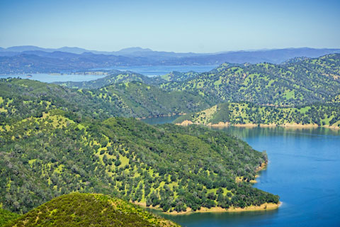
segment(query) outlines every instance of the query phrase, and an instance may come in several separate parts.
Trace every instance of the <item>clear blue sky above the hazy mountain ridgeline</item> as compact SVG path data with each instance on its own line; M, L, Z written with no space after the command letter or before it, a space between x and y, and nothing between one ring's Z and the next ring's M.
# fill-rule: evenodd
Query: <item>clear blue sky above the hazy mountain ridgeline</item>
M0 46L340 48L340 1L0 0Z

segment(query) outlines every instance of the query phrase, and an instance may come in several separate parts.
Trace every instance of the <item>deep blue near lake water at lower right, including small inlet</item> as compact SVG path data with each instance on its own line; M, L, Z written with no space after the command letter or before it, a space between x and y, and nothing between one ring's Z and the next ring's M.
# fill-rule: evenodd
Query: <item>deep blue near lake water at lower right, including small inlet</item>
M159 123L174 121L158 118ZM149 121L149 119L147 119ZM266 150L254 187L278 194L273 211L164 215L182 226L340 226L340 131L329 128L220 128ZM157 214L159 212L156 211Z

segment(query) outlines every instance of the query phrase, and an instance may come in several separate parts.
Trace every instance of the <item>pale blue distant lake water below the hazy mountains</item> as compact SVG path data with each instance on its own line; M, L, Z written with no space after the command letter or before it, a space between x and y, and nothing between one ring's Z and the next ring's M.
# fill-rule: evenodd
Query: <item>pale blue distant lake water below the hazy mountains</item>
M171 71L178 71L178 72L188 72L188 71L195 71L195 72L208 72L212 69L217 67L217 65L158 65L158 66L130 66L130 67L111 67L106 69L94 69L94 70L120 70L120 71L132 71L137 72L140 74L144 74L148 77L153 77L157 75L164 75L168 74ZM35 79L40 82L81 82L81 81L89 81L93 79L99 79L105 77L105 75L84 75L84 74L62 74L62 75L55 75L55 74L47 74L47 73L34 73L31 74L32 77L27 77L28 74L13 74L13 75L0 75L1 78L8 78L8 77L20 77L23 79Z

